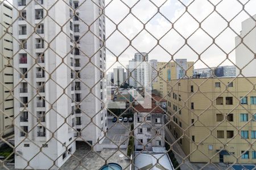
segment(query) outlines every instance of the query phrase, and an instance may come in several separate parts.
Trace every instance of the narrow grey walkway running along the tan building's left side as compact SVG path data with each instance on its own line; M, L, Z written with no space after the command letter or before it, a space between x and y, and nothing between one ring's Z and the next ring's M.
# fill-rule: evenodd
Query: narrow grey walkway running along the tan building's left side
M171 134L171 132L168 130L167 127L165 127L165 130L166 130L166 139L167 139L167 141L171 144L174 143L176 141L174 136ZM174 151L179 154L179 155L177 155L174 152L175 158L177 159L177 162L179 164L181 164L181 166L180 166L181 170L183 170L183 169L197 169L197 167L195 167L195 165L191 164L188 159L184 159L186 155L184 154L183 150L181 149L181 147L179 146L179 144L177 142L173 145L173 148L174 148ZM183 159L184 159L184 163L183 163Z

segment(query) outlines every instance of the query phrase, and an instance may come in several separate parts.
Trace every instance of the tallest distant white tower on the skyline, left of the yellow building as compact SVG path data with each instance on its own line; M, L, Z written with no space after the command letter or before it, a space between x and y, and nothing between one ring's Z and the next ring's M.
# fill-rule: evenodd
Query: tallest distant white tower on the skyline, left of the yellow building
M147 53L135 53L135 87L151 87L150 65Z

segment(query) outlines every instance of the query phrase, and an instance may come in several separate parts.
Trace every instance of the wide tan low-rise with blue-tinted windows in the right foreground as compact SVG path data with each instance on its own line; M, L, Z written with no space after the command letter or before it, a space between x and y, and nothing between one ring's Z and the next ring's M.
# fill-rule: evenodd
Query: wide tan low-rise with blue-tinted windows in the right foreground
M168 82L168 129L191 162L256 163L255 83L256 78Z

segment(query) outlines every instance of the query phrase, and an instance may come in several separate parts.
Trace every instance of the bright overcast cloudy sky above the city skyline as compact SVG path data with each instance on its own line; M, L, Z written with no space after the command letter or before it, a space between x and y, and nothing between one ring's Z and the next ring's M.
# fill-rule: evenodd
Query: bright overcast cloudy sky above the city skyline
M106 4L108 2L106 1ZM240 1L245 4L246 12L242 10L242 5L237 0L210 1L213 5L217 5L216 11L214 11L214 6L205 0L196 0L193 3L191 3L192 1L182 1L186 6L191 3L187 12L179 1L170 0L166 3L164 1L152 1L157 3L156 6L158 7L164 3L160 7L160 12L164 16L159 13L156 14L158 8L148 0L141 0L136 5L134 5L137 2L135 0L125 0L123 2L127 3L128 7L119 0L112 1L106 7L106 15L115 24L118 24L129 14L129 7L134 6L131 8L131 12L135 16L129 14L126 19L118 24L119 31L127 38L123 37L121 33L114 33L106 41L106 46L113 50L116 55L123 52L129 46L129 40L131 40L131 44L139 52L149 52L150 59L170 61L171 54L174 55L174 59L187 58L189 61L196 61L199 58L198 54L200 54L201 59L208 66L219 65L225 60L227 53L229 58L233 62L235 61L232 50L235 46L235 37L241 31L241 22L250 17L246 12L250 15L256 14L254 9L256 1L248 3L244 0ZM227 28L228 23L223 18L230 22L230 27L235 32ZM202 29L199 28L198 22L201 23ZM174 28L172 28L172 23L174 23ZM147 31L155 37L145 30L142 31L143 24L146 24ZM108 37L114 30L115 25L106 19L106 36ZM140 31L142 32L139 33ZM137 35L138 33L139 35ZM136 37L134 38L134 36ZM160 39L159 44L161 46L155 47L157 42L155 38ZM184 38L187 39L188 45L184 45ZM217 45L213 44L209 47L213 39ZM133 58L134 53L137 52L134 48L129 46L119 56L123 65L126 65L129 59ZM152 48L154 49L152 50ZM107 68L115 61L116 58L113 57L113 54L107 51ZM205 67L203 62L197 62L195 67ZM230 65L231 63L229 61L222 63L222 65L225 64Z

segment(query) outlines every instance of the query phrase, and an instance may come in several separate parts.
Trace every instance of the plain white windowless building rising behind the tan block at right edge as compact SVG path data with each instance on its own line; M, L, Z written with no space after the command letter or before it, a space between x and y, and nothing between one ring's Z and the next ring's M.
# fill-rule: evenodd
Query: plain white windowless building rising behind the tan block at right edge
M242 22L240 36L243 38L243 44L240 44L241 38L239 36L236 37L236 46L240 44L236 48L236 65L242 69L243 76L256 76L256 60L254 59L256 51L256 15L253 18ZM236 74L240 74L239 69L237 69Z

